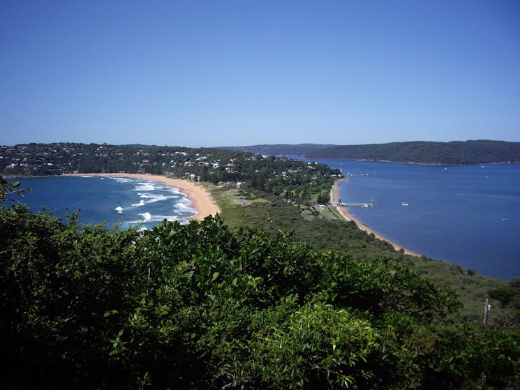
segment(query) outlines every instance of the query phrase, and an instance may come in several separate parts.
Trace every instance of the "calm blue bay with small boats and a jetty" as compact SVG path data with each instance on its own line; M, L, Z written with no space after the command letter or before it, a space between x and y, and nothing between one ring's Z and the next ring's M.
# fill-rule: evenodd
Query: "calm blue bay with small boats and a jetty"
M375 204L350 212L390 241L482 275L520 276L520 165L317 161L348 177L342 202Z

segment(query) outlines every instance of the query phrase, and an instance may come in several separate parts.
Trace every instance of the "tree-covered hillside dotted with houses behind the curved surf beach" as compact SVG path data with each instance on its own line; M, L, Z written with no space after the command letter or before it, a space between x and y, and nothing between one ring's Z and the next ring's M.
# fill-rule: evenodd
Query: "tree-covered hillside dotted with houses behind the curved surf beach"
M146 173L236 186L309 204L328 201L340 174L327 165L221 149L107 144L20 144L0 147L0 174L43 176L70 173Z

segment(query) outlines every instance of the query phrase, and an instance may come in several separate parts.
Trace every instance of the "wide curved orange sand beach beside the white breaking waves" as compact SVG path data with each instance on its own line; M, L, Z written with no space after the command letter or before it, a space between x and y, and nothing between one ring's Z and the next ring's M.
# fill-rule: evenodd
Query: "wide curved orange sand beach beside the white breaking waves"
M114 176L114 177L132 177L134 179L144 179L151 181L159 181L167 186L179 188L193 202L193 208L198 213L188 219L203 220L207 216L215 216L221 210L218 208L213 198L207 192L206 188L199 183L193 183L184 179L171 179L160 174L131 174L131 173L74 173L62 174L61 176Z

